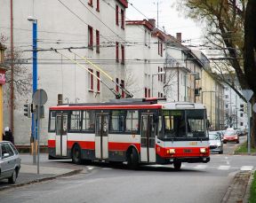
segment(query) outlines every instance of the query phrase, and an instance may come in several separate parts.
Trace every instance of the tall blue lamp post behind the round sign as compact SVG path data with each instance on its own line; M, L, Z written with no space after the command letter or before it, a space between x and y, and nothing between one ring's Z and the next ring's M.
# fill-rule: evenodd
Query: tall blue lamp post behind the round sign
M28 16L28 21L32 22L32 35L33 35L33 94L37 90L37 20L32 17ZM32 114L32 123L31 123L31 131L34 138L34 152L33 152L33 163L36 164L36 132L37 132L37 125L34 117L34 113Z

